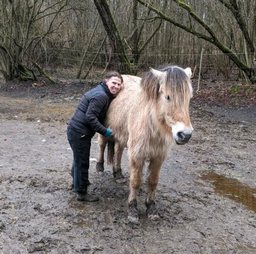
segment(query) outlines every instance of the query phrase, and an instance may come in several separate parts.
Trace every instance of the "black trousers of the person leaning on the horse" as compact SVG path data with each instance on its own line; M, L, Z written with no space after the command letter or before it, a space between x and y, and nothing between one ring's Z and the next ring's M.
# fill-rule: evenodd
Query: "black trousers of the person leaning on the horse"
M91 137L86 136L78 131L67 128L69 144L73 151L73 164L71 175L74 179L74 191L86 192L89 185L89 160Z

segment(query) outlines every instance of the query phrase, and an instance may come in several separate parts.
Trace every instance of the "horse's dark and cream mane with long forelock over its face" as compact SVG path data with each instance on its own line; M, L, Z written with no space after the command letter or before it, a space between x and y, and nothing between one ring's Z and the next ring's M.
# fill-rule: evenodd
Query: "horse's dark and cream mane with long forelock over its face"
M165 95L170 97L171 103L178 107L187 107L192 91L188 85L190 79L184 70L178 66L170 65L160 66L156 70L166 72ZM149 100L157 102L160 84L151 71L143 74L141 88L147 94Z

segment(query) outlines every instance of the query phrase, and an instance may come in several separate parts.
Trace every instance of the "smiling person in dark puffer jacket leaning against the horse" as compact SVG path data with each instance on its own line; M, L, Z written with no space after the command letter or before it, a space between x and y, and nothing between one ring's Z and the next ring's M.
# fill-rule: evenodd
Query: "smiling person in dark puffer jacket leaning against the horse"
M78 201L99 200L96 195L87 192L91 138L96 132L106 138L112 135L111 129L103 126L103 121L108 106L122 83L123 78L119 73L109 73L105 81L101 81L96 88L84 94L68 122L67 136L73 151L71 175Z

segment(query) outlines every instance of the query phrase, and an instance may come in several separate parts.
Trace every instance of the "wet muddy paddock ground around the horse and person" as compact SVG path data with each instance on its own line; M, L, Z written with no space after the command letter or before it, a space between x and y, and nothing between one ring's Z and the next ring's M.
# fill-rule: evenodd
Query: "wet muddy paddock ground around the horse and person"
M145 216L143 183L134 224L126 218L126 150L127 183L118 184L107 165L96 175L92 139L89 190L100 201L78 202L70 188L66 122L88 89L71 81L0 83L0 254L256 253L254 102L225 106L208 101L204 90L195 96L193 137L162 165L160 218Z

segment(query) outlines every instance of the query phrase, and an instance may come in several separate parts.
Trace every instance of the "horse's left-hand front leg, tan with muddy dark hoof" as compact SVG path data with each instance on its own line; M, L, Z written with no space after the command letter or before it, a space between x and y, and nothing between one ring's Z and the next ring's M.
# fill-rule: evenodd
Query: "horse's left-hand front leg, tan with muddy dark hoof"
M144 161L137 161L130 156L130 194L128 198L128 219L131 221L139 220L137 210L137 195L142 183L142 168Z

